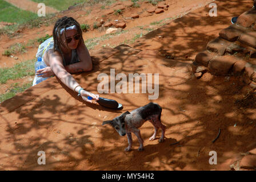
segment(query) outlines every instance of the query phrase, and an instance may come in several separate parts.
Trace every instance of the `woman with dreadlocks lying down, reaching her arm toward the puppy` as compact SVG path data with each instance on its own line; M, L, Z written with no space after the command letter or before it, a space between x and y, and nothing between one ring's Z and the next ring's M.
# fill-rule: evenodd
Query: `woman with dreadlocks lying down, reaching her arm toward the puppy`
M70 74L93 69L89 51L83 42L81 27L74 18L64 16L58 19L53 29L53 38L47 39L41 46L37 57L42 57L47 67L37 71L38 77L55 75L63 84L79 93L83 100L92 103L87 96L98 100L98 94L84 90ZM34 80L33 86L35 84Z

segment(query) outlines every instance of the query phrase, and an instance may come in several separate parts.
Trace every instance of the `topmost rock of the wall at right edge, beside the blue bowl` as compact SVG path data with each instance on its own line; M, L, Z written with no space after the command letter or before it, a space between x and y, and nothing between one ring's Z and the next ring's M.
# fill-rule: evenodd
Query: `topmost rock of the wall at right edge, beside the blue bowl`
M242 27L250 27L256 22L256 10L251 9L238 16L237 24Z

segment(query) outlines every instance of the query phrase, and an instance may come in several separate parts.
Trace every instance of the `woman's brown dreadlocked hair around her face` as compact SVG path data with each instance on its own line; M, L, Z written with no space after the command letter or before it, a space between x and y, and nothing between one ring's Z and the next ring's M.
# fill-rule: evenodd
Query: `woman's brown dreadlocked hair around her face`
M53 50L55 51L55 47L59 47L62 45L63 47L67 47L67 44L65 44L61 39L61 29L65 28L65 31L63 32L66 37L66 28L75 25L77 27L77 32L80 35L79 44L83 42L82 37L82 30L80 27L80 24L72 17L63 16L62 18L59 18L57 22L55 23L55 26L53 28L53 39L54 39L54 46Z

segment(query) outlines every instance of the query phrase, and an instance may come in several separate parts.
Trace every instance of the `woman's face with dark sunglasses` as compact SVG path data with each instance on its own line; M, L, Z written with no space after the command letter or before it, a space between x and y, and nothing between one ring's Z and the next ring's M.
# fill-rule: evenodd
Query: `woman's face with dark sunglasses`
M66 30L66 38L64 32L61 35L61 38L70 49L76 49L79 43L80 35L78 34L77 30Z

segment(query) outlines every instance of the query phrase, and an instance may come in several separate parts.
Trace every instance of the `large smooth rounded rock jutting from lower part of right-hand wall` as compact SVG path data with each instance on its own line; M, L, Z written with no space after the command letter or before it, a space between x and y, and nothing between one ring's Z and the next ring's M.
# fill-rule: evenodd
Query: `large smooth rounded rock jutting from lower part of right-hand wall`
M227 75L238 59L234 56L218 56L209 61L208 68L215 75Z

